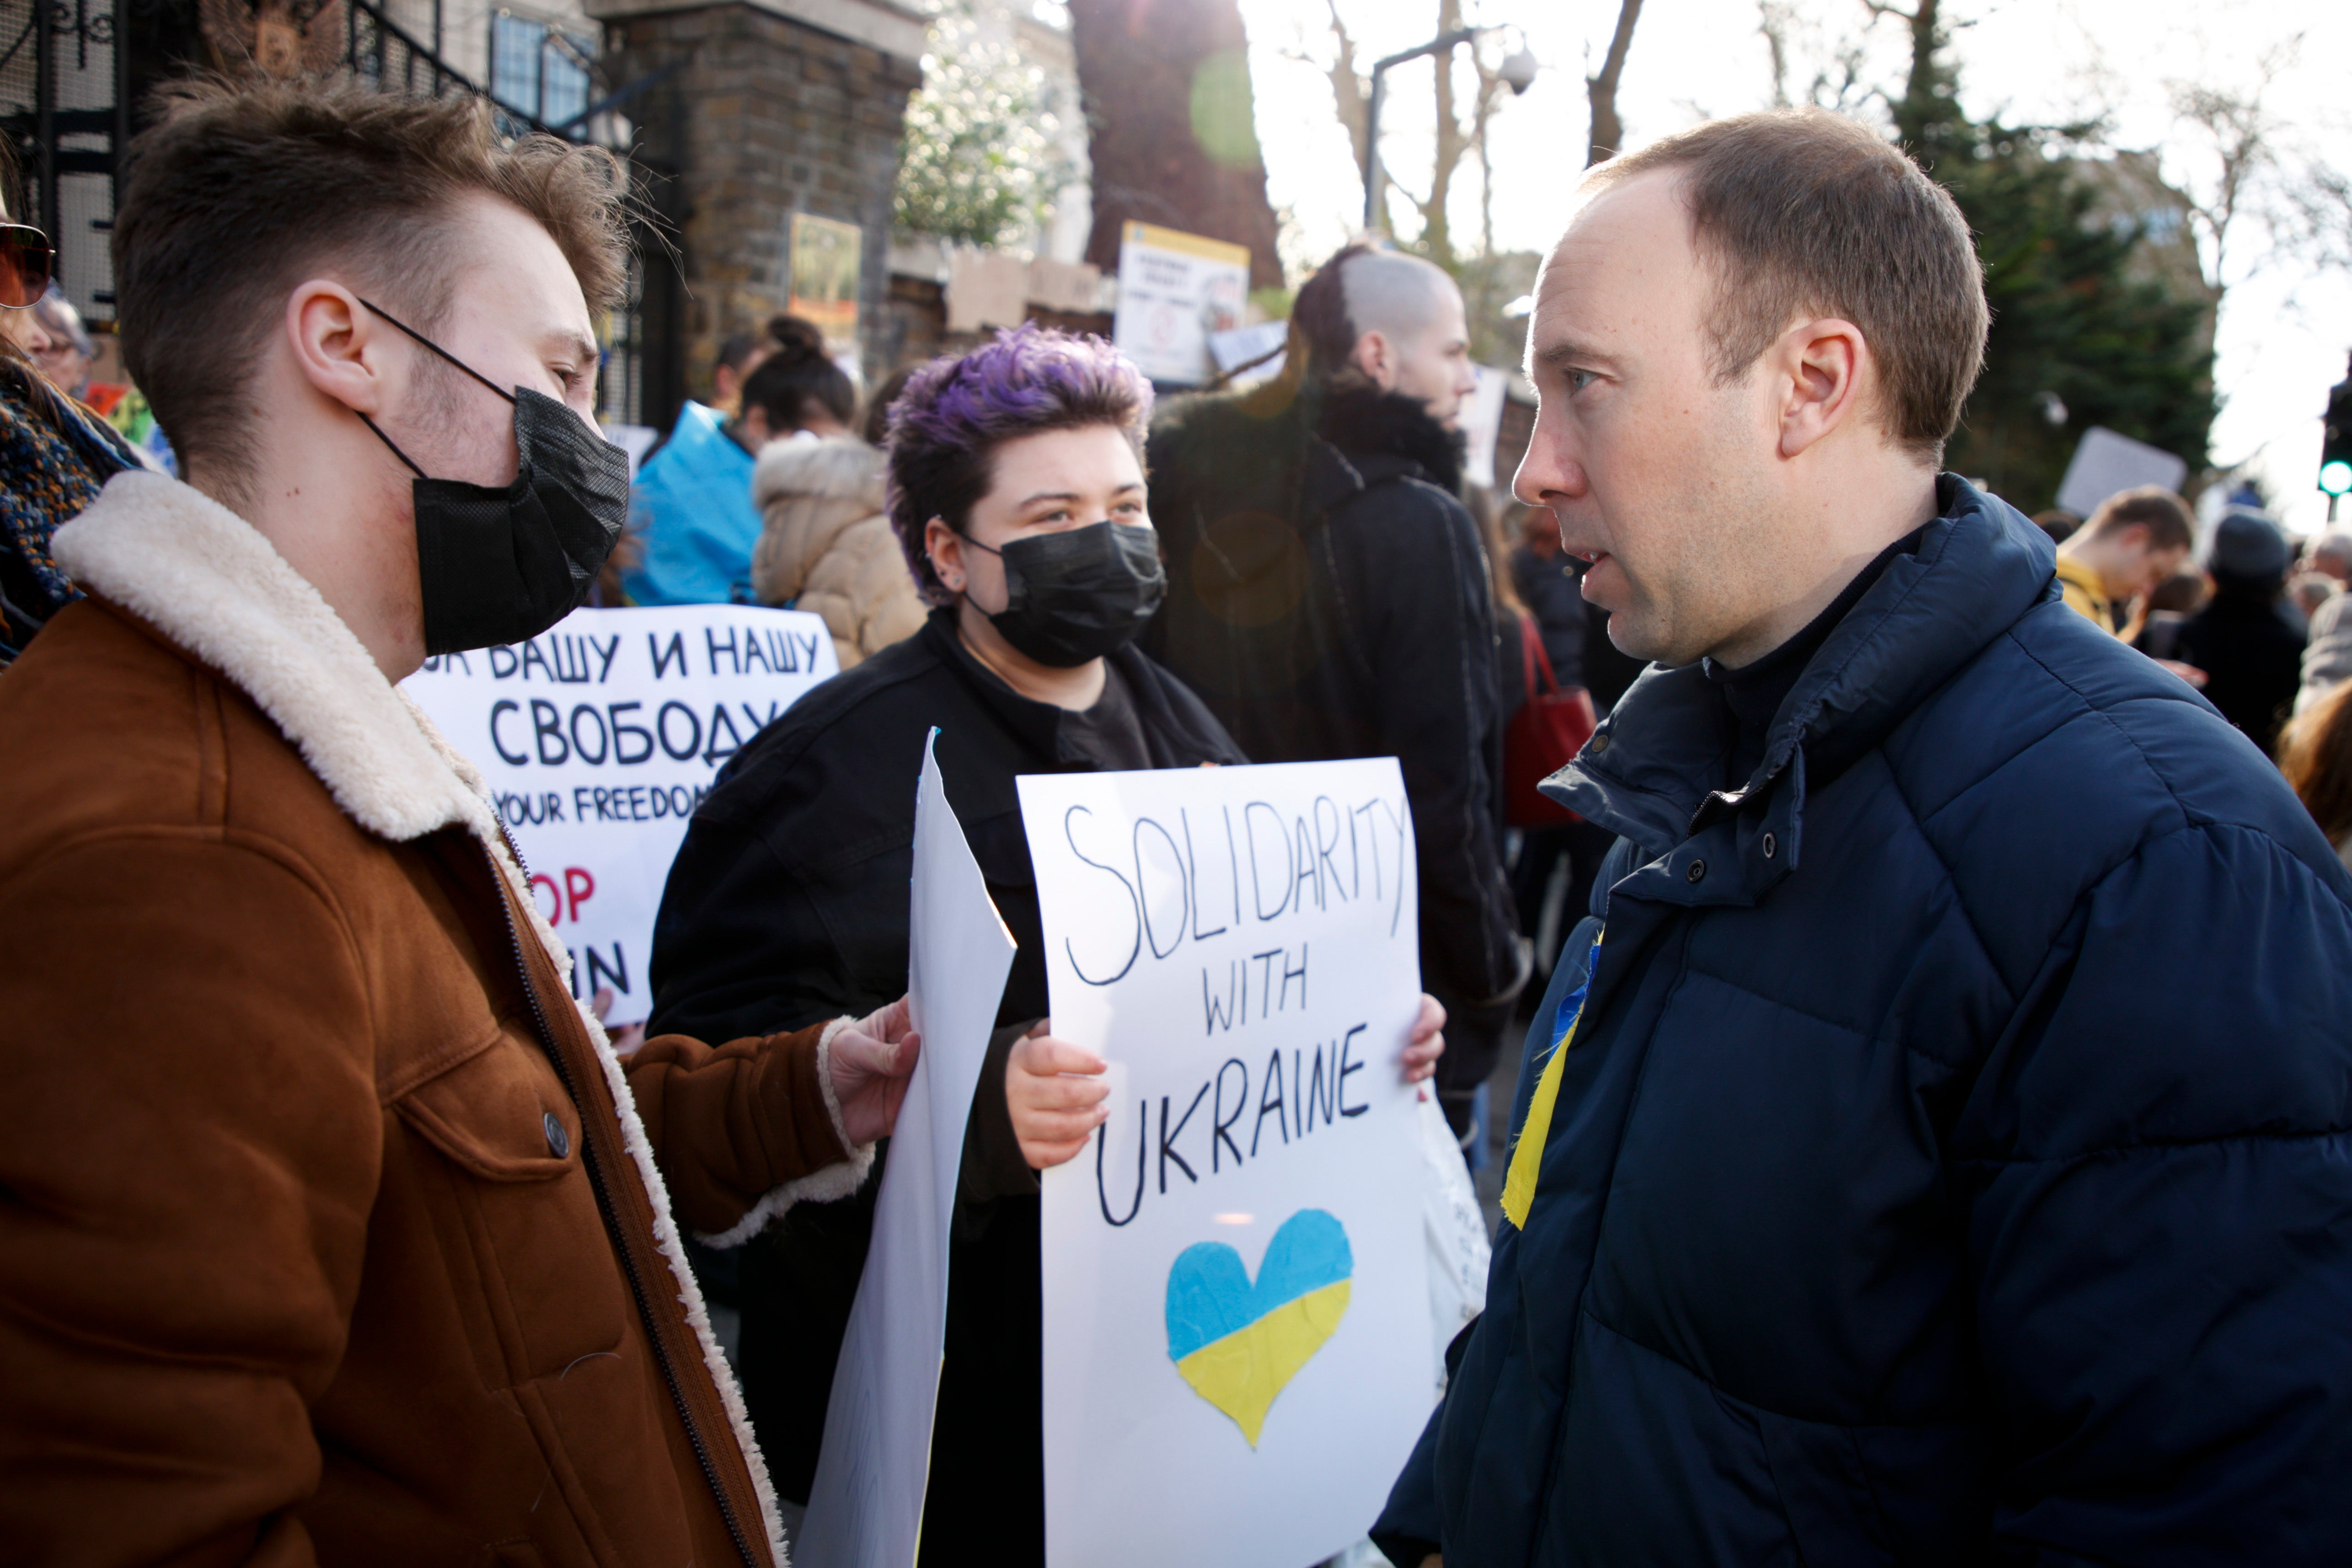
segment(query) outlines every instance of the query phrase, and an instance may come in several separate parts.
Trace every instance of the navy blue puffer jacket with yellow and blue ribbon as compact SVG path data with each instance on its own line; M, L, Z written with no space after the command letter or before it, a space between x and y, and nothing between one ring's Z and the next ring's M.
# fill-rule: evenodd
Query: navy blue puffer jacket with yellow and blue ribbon
M2352 879L1938 498L1745 792L1698 668L1555 778L1606 938L1392 1556L2352 1563Z

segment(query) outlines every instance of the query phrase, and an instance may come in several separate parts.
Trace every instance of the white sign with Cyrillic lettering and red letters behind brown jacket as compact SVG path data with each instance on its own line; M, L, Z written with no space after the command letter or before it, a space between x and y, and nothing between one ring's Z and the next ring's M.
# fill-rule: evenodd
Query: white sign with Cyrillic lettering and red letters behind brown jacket
M572 950L572 987L654 1006L654 912L720 766L840 670L818 616L750 604L581 609L515 646L428 658L402 682L489 780Z

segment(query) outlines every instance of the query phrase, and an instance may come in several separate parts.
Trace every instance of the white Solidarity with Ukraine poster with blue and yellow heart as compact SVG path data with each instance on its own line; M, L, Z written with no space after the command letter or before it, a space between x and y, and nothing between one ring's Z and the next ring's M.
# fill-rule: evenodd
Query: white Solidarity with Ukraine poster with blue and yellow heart
M1033 776L1021 818L1054 1032L1112 1088L1044 1175L1047 1561L1305 1568L1432 1401L1402 776Z

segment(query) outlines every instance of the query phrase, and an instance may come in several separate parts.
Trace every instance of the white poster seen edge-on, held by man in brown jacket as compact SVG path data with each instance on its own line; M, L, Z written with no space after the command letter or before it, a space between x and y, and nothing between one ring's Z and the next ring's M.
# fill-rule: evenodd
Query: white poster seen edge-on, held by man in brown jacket
M873 1246L833 1373L809 1519L793 1547L802 1568L915 1568L948 1349L955 1178L971 1091L1014 966L1014 936L941 785L936 741L934 729L922 743L908 917L908 994L922 1056L898 1105L875 1194Z

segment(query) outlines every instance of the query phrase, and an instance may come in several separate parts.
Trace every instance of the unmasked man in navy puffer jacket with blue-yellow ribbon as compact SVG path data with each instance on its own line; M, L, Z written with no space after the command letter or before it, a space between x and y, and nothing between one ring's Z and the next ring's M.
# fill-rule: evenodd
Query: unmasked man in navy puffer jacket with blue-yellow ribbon
M1658 663L1416 1568L2352 1561L2352 879L1936 477L1950 200L1818 113L1604 165L1517 491Z

